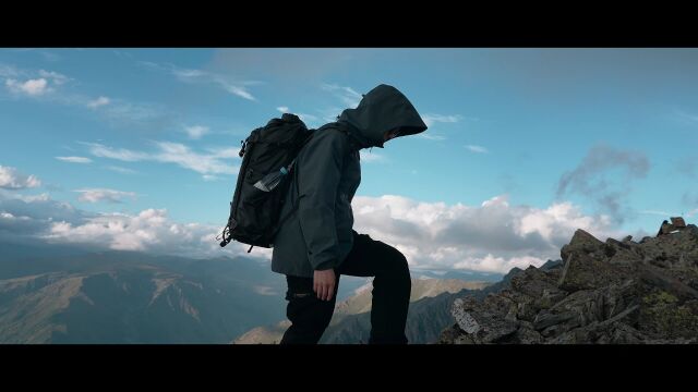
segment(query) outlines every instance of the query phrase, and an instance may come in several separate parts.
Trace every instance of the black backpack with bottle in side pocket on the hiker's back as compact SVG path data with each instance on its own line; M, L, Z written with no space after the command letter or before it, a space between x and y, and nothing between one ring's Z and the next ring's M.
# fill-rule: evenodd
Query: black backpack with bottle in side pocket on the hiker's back
M236 240L254 246L272 247L284 196L289 187L288 174L296 157L313 132L297 117L284 113L258 127L242 143L242 164L230 203L228 224L220 246Z

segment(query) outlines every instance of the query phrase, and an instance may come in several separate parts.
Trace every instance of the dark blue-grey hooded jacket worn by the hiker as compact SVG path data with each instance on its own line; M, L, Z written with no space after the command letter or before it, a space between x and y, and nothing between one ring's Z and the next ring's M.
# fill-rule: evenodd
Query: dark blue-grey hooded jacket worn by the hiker
M281 216L291 215L274 240L275 272L312 277L347 257L353 245L351 200L361 182L359 150L383 148L385 133L394 130L401 137L426 125L402 93L380 85L356 109L315 131L298 156L286 195Z

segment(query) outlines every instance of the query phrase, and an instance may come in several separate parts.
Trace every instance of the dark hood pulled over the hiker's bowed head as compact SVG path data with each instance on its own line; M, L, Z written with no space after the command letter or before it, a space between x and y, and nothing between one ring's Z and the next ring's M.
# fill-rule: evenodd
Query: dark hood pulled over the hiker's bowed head
M363 95L356 109L341 112L338 122L352 125L364 148L383 148L386 131L399 128L400 137L426 130L426 124L407 97L384 84Z

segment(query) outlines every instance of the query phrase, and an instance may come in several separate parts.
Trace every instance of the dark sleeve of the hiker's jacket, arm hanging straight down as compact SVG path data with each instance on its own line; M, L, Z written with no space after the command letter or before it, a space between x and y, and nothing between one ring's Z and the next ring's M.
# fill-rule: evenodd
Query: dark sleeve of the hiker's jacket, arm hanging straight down
M299 162L298 213L314 270L326 270L338 264L339 242L335 224L335 200L347 149L341 132L322 131L315 143L303 151Z

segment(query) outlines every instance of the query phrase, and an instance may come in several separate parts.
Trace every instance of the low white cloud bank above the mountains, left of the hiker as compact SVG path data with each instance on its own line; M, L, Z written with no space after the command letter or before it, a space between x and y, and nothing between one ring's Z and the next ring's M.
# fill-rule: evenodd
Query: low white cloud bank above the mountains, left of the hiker
M270 258L270 249L231 242L225 248L216 236L222 226L173 222L164 209L146 209L135 215L94 213L68 203L51 200L47 194L22 196L0 189L0 238L88 245L93 248L144 250L194 258L245 255Z

